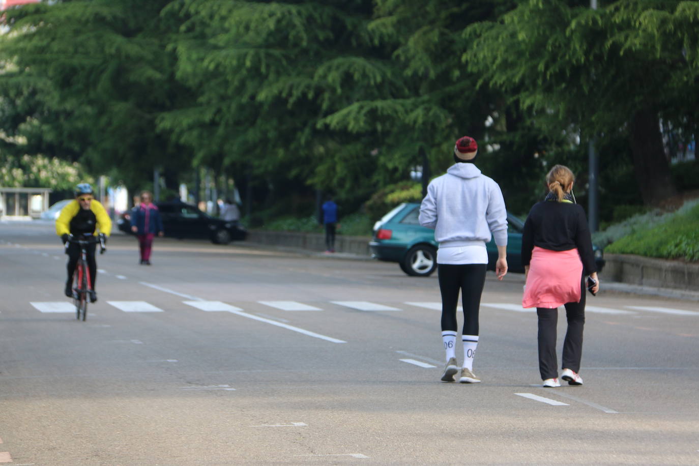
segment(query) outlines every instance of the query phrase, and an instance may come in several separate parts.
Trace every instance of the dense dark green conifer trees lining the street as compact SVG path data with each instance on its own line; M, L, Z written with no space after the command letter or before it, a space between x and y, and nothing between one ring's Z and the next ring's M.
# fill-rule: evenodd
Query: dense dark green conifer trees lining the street
M526 214L554 163L585 201L595 138L612 219L676 192L669 157L697 132L699 2L599 3L27 5L0 36L0 156L79 161L131 189L154 168L175 189L206 167L253 212L306 215L319 191L345 211L389 185L417 193L410 172L442 173L469 134Z

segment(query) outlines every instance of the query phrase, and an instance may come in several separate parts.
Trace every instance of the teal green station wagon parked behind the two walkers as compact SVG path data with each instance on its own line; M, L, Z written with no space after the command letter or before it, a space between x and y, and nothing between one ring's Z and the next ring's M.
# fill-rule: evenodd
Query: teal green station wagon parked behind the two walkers
M418 203L403 203L374 224L371 255L380 261L397 262L408 275L427 277L437 268L437 248L434 230L419 224ZM524 273L521 263L522 229L524 221L507 212L507 269ZM488 270L495 270L498 247L493 240L486 245ZM605 263L602 249L594 247L598 271Z

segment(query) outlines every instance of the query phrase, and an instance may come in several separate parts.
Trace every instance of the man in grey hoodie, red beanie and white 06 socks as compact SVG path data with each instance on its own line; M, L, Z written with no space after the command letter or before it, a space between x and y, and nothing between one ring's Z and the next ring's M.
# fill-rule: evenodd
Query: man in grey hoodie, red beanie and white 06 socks
M473 357L478 345L478 312L488 265L486 243L495 238L498 247L496 275L507 273L507 210L498 184L474 165L478 145L463 136L454 146L454 165L427 187L420 205L419 222L434 228L439 287L442 294L442 342L447 365L442 381L454 381L456 363L456 305L463 306L462 384L476 384Z

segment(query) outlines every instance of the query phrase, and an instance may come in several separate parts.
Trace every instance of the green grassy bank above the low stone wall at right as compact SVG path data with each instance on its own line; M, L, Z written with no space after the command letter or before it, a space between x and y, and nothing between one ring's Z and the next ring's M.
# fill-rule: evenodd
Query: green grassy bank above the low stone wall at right
M663 224L614 241L605 252L699 261L699 203L678 211Z

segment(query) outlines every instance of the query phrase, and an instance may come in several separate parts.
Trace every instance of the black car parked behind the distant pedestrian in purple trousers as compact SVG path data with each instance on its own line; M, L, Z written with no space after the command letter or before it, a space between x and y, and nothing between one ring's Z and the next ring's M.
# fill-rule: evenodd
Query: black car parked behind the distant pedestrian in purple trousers
M155 203L163 219L165 235L171 238L205 238L218 245L227 245L231 240L245 240L247 230L237 221L225 221L211 217L194 205L164 202ZM117 220L118 228L131 233L130 212L124 212Z

